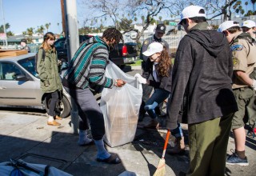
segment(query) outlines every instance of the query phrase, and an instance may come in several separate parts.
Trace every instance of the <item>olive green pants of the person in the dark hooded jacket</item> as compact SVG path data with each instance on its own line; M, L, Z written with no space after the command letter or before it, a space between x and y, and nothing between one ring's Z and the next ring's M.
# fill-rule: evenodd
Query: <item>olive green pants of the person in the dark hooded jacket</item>
M189 124L190 169L187 175L225 174L226 149L234 114Z

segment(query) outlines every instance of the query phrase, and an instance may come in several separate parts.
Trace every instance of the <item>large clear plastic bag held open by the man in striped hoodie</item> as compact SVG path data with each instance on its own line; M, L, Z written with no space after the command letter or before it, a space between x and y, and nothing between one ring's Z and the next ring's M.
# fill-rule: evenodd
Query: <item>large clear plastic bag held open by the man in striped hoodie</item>
M104 88L100 102L106 129L104 141L111 147L121 146L134 140L142 103L142 85L113 62L106 66L106 77L126 81L122 87Z

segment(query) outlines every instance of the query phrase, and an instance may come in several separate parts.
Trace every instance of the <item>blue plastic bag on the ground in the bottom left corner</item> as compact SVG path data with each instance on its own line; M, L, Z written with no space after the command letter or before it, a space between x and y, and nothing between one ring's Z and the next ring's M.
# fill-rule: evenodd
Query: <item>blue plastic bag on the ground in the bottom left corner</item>
M53 166L43 164L32 164L24 162L21 159L10 159L10 162L0 163L1 176L72 176L62 170L58 170Z

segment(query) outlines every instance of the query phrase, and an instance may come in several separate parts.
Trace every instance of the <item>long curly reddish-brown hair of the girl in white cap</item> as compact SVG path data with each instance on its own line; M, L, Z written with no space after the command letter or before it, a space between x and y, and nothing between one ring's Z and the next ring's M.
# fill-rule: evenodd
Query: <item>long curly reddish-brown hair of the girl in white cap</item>
M160 76L168 77L169 76L169 70L170 67L172 66L171 58L166 50L166 46L163 46L162 53L160 55L160 60L158 63L158 73Z

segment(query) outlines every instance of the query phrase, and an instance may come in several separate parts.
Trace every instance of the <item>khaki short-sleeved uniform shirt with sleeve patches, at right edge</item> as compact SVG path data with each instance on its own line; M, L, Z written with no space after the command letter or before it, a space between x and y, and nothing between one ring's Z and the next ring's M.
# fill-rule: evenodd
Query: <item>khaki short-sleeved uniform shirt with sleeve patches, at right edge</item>
M238 33L231 42L234 71L240 70L247 75L251 74L256 66L256 45L250 34ZM246 85L233 75L232 89L245 87Z

